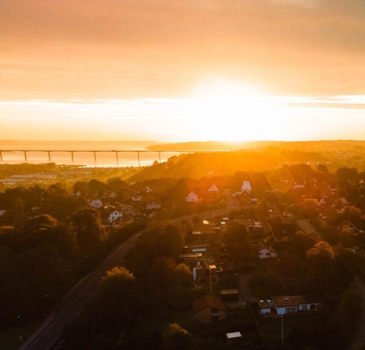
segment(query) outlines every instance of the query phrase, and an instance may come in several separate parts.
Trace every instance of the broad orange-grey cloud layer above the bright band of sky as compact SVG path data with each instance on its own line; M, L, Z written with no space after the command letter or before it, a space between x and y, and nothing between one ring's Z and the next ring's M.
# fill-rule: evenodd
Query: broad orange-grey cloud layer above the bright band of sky
M0 93L178 95L211 74L278 94L358 94L362 0L1 0Z

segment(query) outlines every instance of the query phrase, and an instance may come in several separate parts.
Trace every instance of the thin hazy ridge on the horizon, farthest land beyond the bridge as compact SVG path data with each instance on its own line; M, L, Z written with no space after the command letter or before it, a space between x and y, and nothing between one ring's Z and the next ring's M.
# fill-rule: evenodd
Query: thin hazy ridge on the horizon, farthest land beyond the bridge
M249 149L249 148L266 148L280 147L287 150L337 150L353 149L353 147L364 147L365 140L318 140L318 141L242 141L242 142L224 142L224 141L192 141L178 143L160 143L150 144L147 146L150 150L220 150L220 149Z

